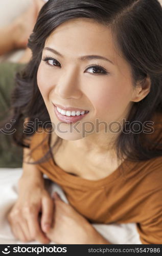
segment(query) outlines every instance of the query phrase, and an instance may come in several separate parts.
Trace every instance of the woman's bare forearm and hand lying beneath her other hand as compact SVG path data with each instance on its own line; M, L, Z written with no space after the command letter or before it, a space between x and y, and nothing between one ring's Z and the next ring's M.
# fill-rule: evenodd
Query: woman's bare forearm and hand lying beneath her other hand
M56 244L109 244L71 205L55 193L55 212L47 237Z

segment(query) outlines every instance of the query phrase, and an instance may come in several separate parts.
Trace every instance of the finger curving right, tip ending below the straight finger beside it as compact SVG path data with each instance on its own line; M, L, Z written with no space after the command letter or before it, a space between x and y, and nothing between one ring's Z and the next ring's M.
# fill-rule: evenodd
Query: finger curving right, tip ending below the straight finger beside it
M40 228L37 214L31 214L27 222L32 238L44 244L50 242L50 240L45 236Z

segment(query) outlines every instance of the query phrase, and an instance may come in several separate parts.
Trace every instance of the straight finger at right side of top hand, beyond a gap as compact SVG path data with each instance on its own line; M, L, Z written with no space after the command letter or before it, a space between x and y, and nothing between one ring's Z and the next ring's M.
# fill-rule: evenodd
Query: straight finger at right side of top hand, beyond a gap
M50 198L42 198L42 216L41 228L44 232L48 232L53 221L54 202Z

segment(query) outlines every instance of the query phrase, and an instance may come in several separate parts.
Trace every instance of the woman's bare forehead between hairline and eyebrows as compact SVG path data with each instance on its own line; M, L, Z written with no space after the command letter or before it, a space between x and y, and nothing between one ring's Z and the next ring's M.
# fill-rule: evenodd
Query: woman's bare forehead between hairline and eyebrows
M59 52L89 54L110 53L113 49L111 31L88 18L75 18L59 25L45 41L45 46L57 47ZM58 49L59 48L59 49ZM115 51L115 49L113 49Z

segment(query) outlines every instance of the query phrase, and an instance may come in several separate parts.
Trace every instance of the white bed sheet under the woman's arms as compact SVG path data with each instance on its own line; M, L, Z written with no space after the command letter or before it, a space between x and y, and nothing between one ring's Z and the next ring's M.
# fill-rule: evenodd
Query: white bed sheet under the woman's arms
M7 221L7 214L17 200L17 182L21 174L22 168L0 168L0 244L40 244L38 241L24 243L16 240ZM57 191L68 203L61 187L49 182L47 176L44 175L44 178L50 194ZM135 223L92 225L112 244L142 244Z

